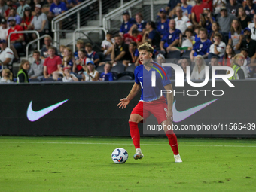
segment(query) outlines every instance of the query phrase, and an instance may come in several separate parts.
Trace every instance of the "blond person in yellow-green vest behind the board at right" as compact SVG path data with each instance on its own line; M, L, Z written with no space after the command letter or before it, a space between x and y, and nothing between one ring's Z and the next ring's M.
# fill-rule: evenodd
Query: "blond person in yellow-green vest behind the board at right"
M243 63L245 61L245 57L242 54L237 54L234 59L232 60L231 66L234 71L234 75L229 78L231 79L245 79L245 73L241 69L241 66L243 66Z

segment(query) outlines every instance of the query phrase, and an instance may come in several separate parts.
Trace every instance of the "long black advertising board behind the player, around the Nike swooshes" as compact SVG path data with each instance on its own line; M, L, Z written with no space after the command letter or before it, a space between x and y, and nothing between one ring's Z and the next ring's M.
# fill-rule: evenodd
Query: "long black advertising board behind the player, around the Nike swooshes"
M209 102L212 103L196 114L175 123L256 123L256 81L233 81L235 87L228 87L224 81L218 81L216 87L211 82L205 87L175 87L183 90L224 90L224 96L175 96L178 111L184 111ZM48 83L48 84L1 84L0 95L0 134L1 135L59 135L59 136L130 136L128 119L133 107L139 101L139 95L126 109L117 108L117 103L130 93L133 81L113 81L107 83ZM217 93L217 92L216 92ZM26 116L29 102L32 109L39 111L57 102L69 99L49 114L31 122ZM150 122L150 120L149 120ZM141 133L142 124L139 125ZM175 131L178 136L213 137L256 137L256 130L236 130L233 132L190 132ZM144 136L163 136L159 133L147 133Z

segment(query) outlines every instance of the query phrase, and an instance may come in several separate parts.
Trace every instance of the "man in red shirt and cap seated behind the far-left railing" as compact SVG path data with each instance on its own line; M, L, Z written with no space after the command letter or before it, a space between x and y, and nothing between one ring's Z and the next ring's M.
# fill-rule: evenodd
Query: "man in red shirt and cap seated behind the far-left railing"
M20 25L16 24L15 17L9 17L8 22L10 24L10 29L8 29L8 36L10 35L11 32L22 32L23 31L23 28ZM22 41L24 41L23 33L11 34L10 43L14 45L14 48L16 50L23 49L23 45L21 44Z

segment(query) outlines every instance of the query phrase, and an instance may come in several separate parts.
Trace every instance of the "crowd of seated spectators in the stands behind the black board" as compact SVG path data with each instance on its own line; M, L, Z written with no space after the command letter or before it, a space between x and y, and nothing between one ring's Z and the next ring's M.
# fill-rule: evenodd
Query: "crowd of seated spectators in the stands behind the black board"
M26 4L19 0L17 4L14 0L0 0L0 44L7 58L2 60L2 65L19 59L17 50L22 49L23 41L36 38L35 34L12 34L8 49L10 32L35 29L40 35L49 34L50 20L79 3L35 0ZM53 40L47 35L41 52L34 51L29 69L24 61L19 75L25 74L28 78L19 78L19 81L112 81L116 79L111 73L115 66L126 69L140 65L137 48L143 43L154 47L155 59L177 59L184 74L187 74L186 66L191 66L191 79L205 78L206 65L210 70L211 66L231 66L235 79L253 78L256 73L255 11L252 0L170 0L166 8L160 9L157 18L149 21L145 21L141 13L133 18L129 11L123 11L120 32L107 33L101 53L96 53L92 44L83 40L76 42L74 53L63 45L53 47ZM173 78L172 69L169 70L169 77Z

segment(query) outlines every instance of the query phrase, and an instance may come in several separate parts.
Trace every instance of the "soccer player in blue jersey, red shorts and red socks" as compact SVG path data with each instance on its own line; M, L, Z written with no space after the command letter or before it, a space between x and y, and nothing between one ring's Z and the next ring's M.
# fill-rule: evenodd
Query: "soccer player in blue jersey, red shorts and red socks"
M140 135L138 123L143 122L151 114L157 117L157 122L163 127L172 125L172 102L173 95L166 94L168 105L164 96L160 95L160 90L172 90L172 84L169 78L161 78L157 71L161 71L161 67L157 62L153 62L152 56L154 48L150 44L142 44L139 46L139 59L142 65L137 66L134 70L135 83L132 90L126 98L120 99L117 106L119 108L126 108L130 100L132 100L139 90L142 90L141 99L133 108L130 115L129 125L130 134L133 139L133 144L136 148L136 154L133 156L135 160L142 159L143 154L140 148ZM156 70L157 69L157 70ZM164 69L163 69L164 70ZM157 87L151 87L151 72L155 71ZM173 130L164 130L169 140L169 145L172 148L175 162L181 163L181 156L178 153L178 142Z

